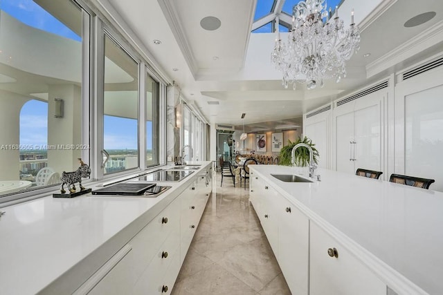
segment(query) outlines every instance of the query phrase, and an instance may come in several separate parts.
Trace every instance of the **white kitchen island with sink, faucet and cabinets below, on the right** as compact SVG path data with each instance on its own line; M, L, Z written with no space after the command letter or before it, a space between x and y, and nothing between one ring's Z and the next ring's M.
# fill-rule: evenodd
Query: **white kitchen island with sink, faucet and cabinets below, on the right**
M250 167L250 200L291 292L443 294L443 193L326 169L283 182L273 175L296 168Z

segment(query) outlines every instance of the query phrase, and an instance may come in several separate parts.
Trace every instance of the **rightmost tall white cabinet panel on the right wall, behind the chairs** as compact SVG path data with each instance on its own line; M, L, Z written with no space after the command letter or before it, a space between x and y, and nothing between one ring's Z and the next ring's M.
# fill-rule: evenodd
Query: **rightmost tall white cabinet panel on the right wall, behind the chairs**
M395 170L435 180L443 191L443 67L401 81L395 88ZM398 79L401 80L399 75Z

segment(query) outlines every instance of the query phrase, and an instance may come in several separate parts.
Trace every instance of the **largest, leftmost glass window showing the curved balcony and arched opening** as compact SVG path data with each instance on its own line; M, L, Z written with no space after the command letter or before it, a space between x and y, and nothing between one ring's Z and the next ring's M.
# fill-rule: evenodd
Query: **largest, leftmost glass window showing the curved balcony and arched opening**
M1 196L60 183L62 171L89 156L82 9L69 0L39 3L0 1Z

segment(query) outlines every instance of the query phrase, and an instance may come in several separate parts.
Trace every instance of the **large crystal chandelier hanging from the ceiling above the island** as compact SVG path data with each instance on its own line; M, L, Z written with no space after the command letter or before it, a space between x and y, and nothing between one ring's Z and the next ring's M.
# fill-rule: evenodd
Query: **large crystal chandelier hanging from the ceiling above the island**
M275 46L271 61L282 71L284 88L289 83L296 89L296 82L306 83L308 89L323 87L324 79L335 78L340 82L346 77L345 61L359 50L359 28L351 13L350 28L345 30L338 18L336 7L327 11L325 0L300 1L293 7L292 30L287 43L280 39L278 17L275 19Z

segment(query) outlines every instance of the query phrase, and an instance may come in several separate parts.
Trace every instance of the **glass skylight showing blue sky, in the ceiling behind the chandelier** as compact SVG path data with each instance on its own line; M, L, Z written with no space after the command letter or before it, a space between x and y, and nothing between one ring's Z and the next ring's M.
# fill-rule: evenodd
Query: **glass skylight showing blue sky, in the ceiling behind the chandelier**
M325 4L334 13L335 7L340 6L343 1L325 0ZM300 0L257 0L252 32L274 32L273 23L277 15L280 17L280 32L289 32L292 9L299 2Z

